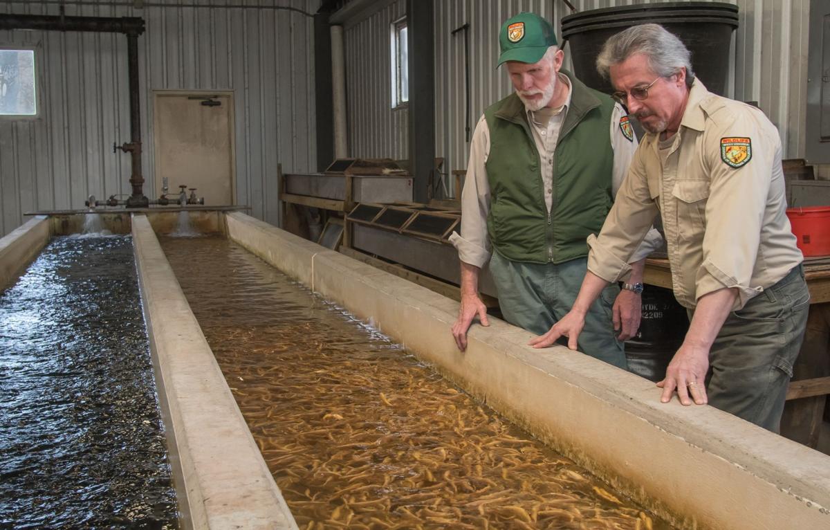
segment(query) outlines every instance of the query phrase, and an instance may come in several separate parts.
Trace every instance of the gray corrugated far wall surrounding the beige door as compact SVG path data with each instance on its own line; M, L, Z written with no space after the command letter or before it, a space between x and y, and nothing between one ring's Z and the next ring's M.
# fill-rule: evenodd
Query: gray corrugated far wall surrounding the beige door
M276 223L276 164L286 172L315 169L314 22L272 7L313 14L319 0L148 0L143 9L124 0L65 4L70 16L144 18L144 194L158 193L152 91L232 90L237 202ZM0 3L0 13L7 12L59 14L51 0ZM0 32L0 46L20 44L40 50L42 115L0 120L0 235L19 226L24 212L83 208L89 194L103 198L131 190L129 155L112 153L114 141L129 141L126 38Z

